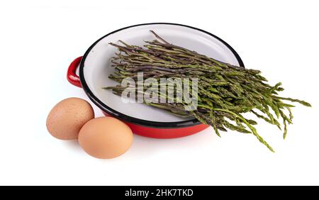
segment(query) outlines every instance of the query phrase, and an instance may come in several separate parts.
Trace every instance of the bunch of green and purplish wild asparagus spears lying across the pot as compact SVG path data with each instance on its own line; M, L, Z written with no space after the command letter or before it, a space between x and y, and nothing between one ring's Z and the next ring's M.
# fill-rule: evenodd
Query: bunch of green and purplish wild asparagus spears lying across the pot
M214 60L192 50L172 45L150 30L157 40L145 41L144 48L110 43L118 48L119 53L112 58L115 72L109 78L121 83L127 77L137 79L137 73L143 72L144 77L153 77L159 81L162 77L196 77L198 79L198 109L185 111L181 103L147 103L160 109L166 109L180 116L194 116L201 123L218 130L237 130L240 133L252 133L260 143L273 151L272 147L257 133L256 121L247 119L242 113L253 113L258 118L277 126L281 130L284 125L284 138L287 123L292 123L291 107L283 100L298 102L310 106L306 101L278 96L283 91L281 83L271 86L262 77L259 70L250 70L228 63ZM105 87L112 89L114 94L121 95L125 89L121 85ZM146 89L143 90L146 92ZM160 94L167 96L167 94ZM287 113L286 113L287 112Z

